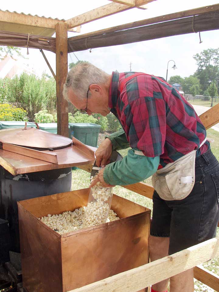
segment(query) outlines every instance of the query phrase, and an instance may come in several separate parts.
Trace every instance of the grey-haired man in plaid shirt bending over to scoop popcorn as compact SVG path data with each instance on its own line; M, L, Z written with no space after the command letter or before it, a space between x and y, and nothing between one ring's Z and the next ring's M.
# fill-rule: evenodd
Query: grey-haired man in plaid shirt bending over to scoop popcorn
M219 219L219 165L193 107L164 79L144 73L112 75L89 63L71 69L64 95L82 113L112 112L122 128L96 151L104 167L91 186L128 185L152 176L151 261L210 239ZM112 149L131 147L107 165ZM167 291L168 279L151 291ZM193 269L170 278L171 292L194 291Z

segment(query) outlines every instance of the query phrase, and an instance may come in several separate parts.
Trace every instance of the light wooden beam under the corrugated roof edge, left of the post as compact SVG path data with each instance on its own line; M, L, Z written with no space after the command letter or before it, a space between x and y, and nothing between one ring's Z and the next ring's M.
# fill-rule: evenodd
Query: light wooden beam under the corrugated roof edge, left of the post
M22 24L22 25L27 25L27 26L52 28L54 30L57 23L64 23L64 20L25 15L25 14L8 12L8 11L0 11L0 21L7 22L7 23ZM79 26L79 27L74 27L73 30L71 31L80 32L80 30L81 30L81 27Z

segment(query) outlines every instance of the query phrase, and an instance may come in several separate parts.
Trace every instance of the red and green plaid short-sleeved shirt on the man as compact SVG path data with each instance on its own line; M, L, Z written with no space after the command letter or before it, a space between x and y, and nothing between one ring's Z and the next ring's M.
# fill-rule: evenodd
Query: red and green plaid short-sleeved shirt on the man
M198 149L206 130L193 107L163 78L153 75L133 77L120 89L123 79L133 74L113 72L109 90L109 108L130 147L148 157L160 156L162 166ZM208 148L205 142L196 156Z

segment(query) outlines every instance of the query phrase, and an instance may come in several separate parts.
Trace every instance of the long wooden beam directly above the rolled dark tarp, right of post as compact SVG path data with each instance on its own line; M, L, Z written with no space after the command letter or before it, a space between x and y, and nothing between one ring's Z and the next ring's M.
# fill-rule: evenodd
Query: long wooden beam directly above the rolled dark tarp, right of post
M79 40L79 39L89 37L89 36L97 36L97 35L100 35L103 33L109 33L109 32L120 31L120 30L127 30L130 28L135 28L135 27L154 24L154 23L160 23L160 22L168 21L168 20L179 19L182 17L199 15L199 14L203 14L203 13L210 12L210 11L219 11L219 4L204 6L204 7L185 10L185 11L176 12L176 13L165 14L162 16L157 16L157 17L153 17L153 18L148 18L148 19L143 19L143 20L139 20L139 21L135 21L135 22L130 22L130 23L119 25L119 26L113 26L113 27L106 28L103 30L97 30L97 31L94 31L91 33L85 33L85 34L82 34L80 36L73 36L73 37L70 37L68 40L69 41L71 41L73 39Z

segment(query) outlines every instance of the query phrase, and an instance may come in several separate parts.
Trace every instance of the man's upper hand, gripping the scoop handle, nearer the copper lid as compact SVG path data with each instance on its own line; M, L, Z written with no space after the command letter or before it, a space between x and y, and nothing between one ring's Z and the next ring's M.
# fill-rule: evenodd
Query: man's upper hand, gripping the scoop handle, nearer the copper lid
M96 165L98 167L104 167L109 163L109 157L112 153L112 142L106 138L98 147L95 152L96 155Z

